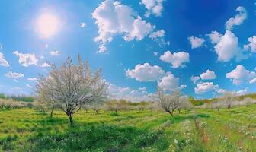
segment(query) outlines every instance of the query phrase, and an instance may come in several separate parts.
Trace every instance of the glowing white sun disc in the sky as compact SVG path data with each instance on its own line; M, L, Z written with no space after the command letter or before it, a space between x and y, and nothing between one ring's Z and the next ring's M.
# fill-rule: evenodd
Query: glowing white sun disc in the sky
M37 17L36 30L43 38L54 36L60 28L59 18L55 14L44 13Z

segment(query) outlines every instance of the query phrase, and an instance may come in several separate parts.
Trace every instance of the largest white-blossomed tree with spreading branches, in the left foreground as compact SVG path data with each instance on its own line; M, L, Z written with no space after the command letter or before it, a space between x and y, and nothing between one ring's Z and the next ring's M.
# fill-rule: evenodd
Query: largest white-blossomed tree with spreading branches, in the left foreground
M80 55L78 65L74 65L70 57L59 68L50 65L52 69L49 75L40 75L37 95L48 104L58 105L69 116L72 125L72 116L83 105L104 98L106 84L101 79L101 68L93 74L88 62L82 62Z

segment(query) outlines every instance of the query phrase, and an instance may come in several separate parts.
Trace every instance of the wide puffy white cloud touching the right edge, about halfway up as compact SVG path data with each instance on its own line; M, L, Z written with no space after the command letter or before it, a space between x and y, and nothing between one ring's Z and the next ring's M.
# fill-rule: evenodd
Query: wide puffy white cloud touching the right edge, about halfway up
M237 65L234 70L226 74L226 78L231 79L235 85L253 83L254 78L256 78L256 73L254 71L246 70L242 65Z

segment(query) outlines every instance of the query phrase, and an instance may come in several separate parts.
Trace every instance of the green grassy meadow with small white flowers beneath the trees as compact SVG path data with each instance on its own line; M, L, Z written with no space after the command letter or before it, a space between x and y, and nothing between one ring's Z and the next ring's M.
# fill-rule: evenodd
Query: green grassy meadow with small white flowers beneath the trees
M0 151L256 151L256 106L175 113L0 111Z

